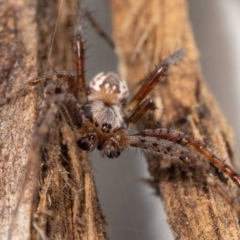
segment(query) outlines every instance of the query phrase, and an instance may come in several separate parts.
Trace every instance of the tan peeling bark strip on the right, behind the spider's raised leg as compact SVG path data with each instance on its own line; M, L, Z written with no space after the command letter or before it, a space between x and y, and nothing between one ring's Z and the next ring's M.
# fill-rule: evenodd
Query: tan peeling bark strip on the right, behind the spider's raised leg
M121 76L136 89L137 81L149 68L152 70L176 48L186 49L187 58L152 94L158 109L166 110L157 112L156 121L167 124L172 120L172 129L221 146L218 155L233 165L232 132L202 81L186 1L110 2ZM144 128L143 123L140 128ZM236 214L198 171L159 156L148 155L148 163L152 184L164 202L175 239L240 239ZM218 178L235 196L231 181L216 172Z

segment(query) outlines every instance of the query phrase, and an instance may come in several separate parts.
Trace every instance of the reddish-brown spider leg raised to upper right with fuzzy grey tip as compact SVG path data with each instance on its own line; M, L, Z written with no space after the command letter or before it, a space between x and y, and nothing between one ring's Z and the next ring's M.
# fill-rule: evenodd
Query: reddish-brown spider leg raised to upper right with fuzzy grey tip
M179 49L173 53L170 57L165 59L155 70L150 73L150 75L143 82L141 88L132 98L132 100L124 108L124 112L127 116L133 114L137 106L143 101L145 96L147 96L152 89L157 85L159 80L163 78L168 72L169 68L180 61L186 55L185 50Z

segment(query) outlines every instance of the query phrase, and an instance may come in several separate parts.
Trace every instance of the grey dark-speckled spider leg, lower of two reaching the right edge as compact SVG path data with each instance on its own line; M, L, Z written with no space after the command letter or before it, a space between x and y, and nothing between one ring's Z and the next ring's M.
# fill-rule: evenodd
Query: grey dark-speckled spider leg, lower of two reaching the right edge
M161 129L158 129L161 130ZM153 130L154 131L154 130ZM127 141L130 147L139 148L147 152L155 152L157 154L167 155L172 158L177 158L183 161L185 164L194 165L202 175L206 178L207 182L212 188L221 195L223 199L236 211L240 216L240 207L235 201L228 195L228 193L222 188L222 186L216 182L208 168L203 161L192 155L192 153L177 142L173 142L166 139L158 139L156 137L145 134L145 131L127 136Z

